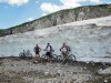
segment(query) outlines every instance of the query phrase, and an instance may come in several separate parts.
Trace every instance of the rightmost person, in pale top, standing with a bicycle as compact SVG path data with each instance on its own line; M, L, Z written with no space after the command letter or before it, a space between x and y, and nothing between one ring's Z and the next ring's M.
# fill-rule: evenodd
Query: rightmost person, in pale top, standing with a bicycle
M69 52L71 51L70 50L70 46L68 46L65 43L63 43L62 46L61 46L61 49L60 49L60 51L61 51L62 58L63 58L63 61L62 62L64 63L64 61L68 58Z

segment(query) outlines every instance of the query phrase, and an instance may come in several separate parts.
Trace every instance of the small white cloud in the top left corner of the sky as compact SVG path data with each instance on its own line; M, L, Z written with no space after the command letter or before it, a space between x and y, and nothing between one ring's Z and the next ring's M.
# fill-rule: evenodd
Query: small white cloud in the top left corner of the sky
M12 4L12 6L22 6L24 3L28 3L29 0L0 0L0 2L4 2L4 3L9 3L9 4Z

